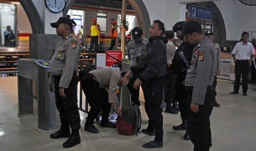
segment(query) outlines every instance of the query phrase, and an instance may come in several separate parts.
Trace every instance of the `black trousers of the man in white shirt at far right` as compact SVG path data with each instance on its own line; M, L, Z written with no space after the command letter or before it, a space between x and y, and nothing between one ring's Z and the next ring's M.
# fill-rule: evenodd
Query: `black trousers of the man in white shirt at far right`
M242 74L242 89L243 92L247 92L248 90L248 83L247 83L247 77L248 77L248 70L249 70L249 61L248 60L236 60L235 63L235 85L234 85L234 91L239 91L240 86L240 78Z

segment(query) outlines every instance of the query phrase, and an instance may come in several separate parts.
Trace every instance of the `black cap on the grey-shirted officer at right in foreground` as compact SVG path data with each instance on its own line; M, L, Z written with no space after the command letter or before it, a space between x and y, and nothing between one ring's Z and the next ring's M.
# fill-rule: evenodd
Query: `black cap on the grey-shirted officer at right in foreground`
M202 31L201 24L197 21L190 20L185 22L182 28L182 34L186 36L188 33L193 33L197 31Z

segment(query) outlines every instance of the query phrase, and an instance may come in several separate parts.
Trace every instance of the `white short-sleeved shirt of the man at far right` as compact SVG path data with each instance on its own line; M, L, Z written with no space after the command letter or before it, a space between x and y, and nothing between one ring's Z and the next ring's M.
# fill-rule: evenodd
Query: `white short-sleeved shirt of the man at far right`
M237 60L250 60L250 55L255 54L253 44L249 42L247 42L247 44L239 42L232 50L232 54L236 55Z

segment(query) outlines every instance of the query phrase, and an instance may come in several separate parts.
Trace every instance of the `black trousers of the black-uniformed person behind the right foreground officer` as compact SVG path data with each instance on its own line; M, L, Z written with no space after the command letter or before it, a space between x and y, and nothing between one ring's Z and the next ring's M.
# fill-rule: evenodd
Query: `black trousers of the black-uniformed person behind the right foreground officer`
M188 117L188 92L186 87L182 84L183 80L186 78L187 72L178 73L176 77L176 98L178 101L179 111L181 112L181 117Z

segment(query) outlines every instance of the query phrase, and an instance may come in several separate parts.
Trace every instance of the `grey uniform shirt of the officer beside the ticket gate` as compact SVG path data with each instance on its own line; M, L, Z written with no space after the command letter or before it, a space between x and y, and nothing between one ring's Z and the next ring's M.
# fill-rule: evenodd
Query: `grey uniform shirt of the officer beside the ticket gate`
M50 71L51 75L61 75L59 87L68 88L74 71L78 69L81 48L80 42L72 33L55 46ZM51 76L51 82L54 82L53 76Z

